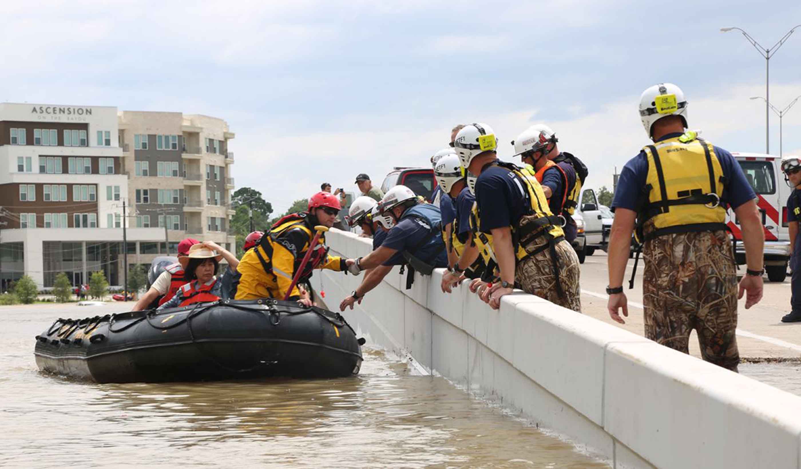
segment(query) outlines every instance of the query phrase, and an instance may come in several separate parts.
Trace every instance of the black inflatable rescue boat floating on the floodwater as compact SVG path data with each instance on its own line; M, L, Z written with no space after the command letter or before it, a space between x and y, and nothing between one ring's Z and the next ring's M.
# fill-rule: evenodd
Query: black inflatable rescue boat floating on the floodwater
M344 318L274 299L57 319L36 336L42 371L97 383L355 375L364 339Z

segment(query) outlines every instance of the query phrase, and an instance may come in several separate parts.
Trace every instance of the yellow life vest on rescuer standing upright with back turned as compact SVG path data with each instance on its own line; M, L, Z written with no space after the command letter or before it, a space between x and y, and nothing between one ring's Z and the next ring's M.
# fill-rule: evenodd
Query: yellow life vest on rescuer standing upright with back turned
M638 213L639 239L727 229L726 208L720 205L726 178L711 143L688 133L642 150L648 176Z

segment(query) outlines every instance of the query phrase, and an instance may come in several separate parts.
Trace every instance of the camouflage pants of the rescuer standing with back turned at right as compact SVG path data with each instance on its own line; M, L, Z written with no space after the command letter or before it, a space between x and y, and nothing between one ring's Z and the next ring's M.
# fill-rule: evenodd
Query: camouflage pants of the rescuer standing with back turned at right
M727 231L666 234L642 252L646 338L689 353L695 329L703 359L737 371L737 276Z

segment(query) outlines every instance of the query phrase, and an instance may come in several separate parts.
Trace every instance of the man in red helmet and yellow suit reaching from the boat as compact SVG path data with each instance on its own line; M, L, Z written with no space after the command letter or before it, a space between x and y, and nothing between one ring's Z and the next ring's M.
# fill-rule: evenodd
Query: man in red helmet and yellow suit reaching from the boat
M235 299L284 299L310 249L316 233L314 227L323 225L330 228L341 209L340 201L333 194L320 191L308 199L308 211L288 214L278 220L259 244L239 261L237 271L241 277ZM321 234L319 244L313 247L308 263L300 272L299 283L311 277L312 269L347 271L354 262L353 259L328 255L324 243L325 237ZM301 298L297 285L289 291L289 299L312 306L312 299Z

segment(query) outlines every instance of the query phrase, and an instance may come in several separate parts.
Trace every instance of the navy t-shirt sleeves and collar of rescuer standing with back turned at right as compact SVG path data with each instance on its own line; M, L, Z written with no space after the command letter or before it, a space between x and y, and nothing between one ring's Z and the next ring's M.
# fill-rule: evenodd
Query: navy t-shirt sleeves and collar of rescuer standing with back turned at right
M657 142L680 136L682 136L680 133L666 134ZM726 186L723 187L723 195L720 198L720 205L728 205L736 209L743 203L753 200L756 197L754 188L746 180L743 168L740 167L735 157L718 146L714 146L714 154L718 157L723 176L727 178ZM706 165L704 168L706 169ZM646 157L646 152L640 150L640 153L631 158L620 172L618 187L614 191L612 209L622 207L629 210L638 210L638 198L642 194L642 188L646 186L647 178L648 158Z

